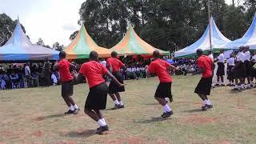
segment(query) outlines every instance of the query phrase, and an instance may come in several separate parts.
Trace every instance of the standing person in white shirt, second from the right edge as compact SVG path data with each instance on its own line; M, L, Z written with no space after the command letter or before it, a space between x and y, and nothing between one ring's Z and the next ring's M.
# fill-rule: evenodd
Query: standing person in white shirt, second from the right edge
M247 78L247 84L245 82L245 88L249 89L250 88L250 76L249 76L249 72L250 72L250 47L249 46L245 46L243 53L245 54L245 66L246 66L246 78ZM246 81L246 80L245 80Z

